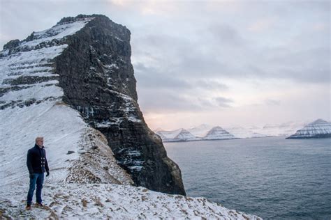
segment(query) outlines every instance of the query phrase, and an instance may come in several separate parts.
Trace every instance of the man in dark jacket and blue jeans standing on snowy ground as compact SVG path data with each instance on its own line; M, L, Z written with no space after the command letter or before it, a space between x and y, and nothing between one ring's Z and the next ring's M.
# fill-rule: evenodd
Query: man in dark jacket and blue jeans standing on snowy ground
M36 138L34 148L27 152L27 167L30 174L30 187L27 195L27 210L31 210L32 197L34 196L34 189L36 189L36 206L42 207L43 201L41 199L41 189L43 188L44 173L50 175L50 169L46 159L46 152L43 146L44 139L42 136Z

